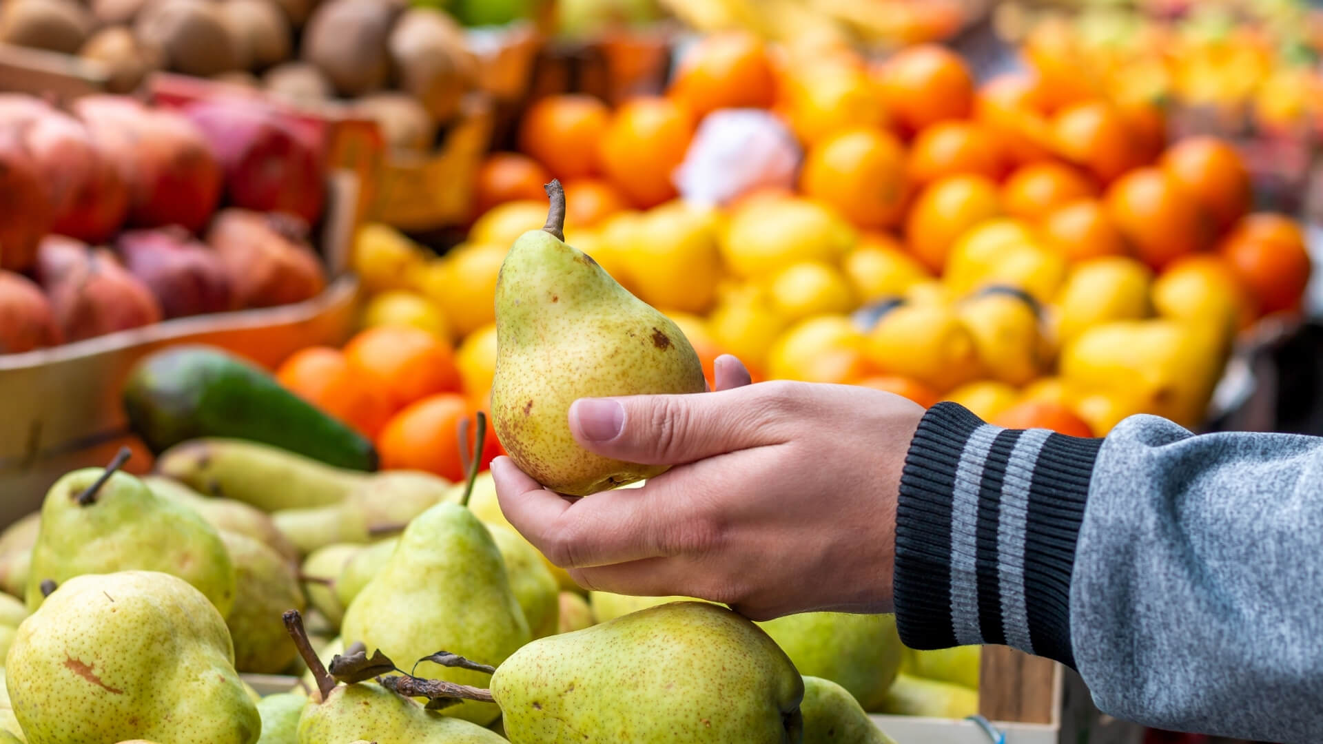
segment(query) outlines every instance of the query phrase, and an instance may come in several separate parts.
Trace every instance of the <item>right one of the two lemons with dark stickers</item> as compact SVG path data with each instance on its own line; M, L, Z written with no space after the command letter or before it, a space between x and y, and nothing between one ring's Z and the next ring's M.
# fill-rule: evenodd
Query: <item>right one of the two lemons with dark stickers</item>
M1050 348L1044 343L1039 314L1025 298L990 291L958 303L955 311L994 380L1024 385L1048 364Z

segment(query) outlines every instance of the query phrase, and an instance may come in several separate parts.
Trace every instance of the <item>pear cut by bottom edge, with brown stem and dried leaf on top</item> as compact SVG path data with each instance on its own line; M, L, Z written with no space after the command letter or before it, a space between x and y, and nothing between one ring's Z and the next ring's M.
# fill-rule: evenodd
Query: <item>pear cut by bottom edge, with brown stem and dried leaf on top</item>
M341 684L303 710L299 744L505 744L486 728L426 711L374 682Z

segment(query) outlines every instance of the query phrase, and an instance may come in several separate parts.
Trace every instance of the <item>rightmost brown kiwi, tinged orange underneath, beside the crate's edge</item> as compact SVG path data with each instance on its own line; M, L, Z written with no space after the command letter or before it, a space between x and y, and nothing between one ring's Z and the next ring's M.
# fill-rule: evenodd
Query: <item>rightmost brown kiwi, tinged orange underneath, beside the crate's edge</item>
M478 61L464 46L459 24L434 8L410 8L396 23L386 48L400 89L422 102L433 119L450 120L478 75Z

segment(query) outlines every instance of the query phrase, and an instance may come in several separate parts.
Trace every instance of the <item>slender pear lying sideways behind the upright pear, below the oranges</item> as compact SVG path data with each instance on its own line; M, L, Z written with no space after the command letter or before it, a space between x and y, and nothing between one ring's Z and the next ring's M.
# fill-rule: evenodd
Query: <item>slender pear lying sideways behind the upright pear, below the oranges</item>
M280 510L271 519L299 551L310 553L332 543L370 543L398 534L450 492L445 478L396 470L373 475L339 503Z

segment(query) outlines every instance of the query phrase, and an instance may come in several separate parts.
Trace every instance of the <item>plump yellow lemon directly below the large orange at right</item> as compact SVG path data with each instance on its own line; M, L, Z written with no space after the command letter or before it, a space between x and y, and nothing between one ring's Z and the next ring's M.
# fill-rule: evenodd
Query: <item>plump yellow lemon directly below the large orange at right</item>
M1147 318L1151 281L1152 271L1134 258L1109 256L1077 263L1057 295L1057 336L1068 342L1099 323Z

